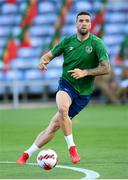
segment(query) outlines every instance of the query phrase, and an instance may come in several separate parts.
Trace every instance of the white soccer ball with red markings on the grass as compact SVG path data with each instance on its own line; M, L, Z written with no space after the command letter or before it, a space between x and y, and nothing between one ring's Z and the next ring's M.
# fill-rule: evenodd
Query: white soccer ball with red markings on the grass
M37 164L45 170L50 170L57 165L58 157L52 149L44 149L37 155Z

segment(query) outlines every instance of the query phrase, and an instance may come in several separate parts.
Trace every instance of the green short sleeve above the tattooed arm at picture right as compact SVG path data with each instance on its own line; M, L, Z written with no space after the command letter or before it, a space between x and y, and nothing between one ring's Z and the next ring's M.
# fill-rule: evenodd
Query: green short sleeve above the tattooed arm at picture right
M106 47L101 39L98 39L98 41L96 41L95 49L99 61L109 60Z

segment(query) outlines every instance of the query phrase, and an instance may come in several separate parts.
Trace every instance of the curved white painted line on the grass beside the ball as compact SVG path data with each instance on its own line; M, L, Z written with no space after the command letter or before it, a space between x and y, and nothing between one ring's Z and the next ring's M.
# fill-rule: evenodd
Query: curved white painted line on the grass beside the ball
M9 162L9 161L0 161L0 164L16 164L15 162ZM37 166L37 163L26 163L27 165L32 165L32 166ZM84 168L76 168L76 167L71 167L71 166L64 166L64 165L57 165L57 168L64 168L64 169L71 169L73 171L81 172L85 176L82 179L97 179L100 177L100 174L97 173L96 171L92 171L89 169L84 169Z

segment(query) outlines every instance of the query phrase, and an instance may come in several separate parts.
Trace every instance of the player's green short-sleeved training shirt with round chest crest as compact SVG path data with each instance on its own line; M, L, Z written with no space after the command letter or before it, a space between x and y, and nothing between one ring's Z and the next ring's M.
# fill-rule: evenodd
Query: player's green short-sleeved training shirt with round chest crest
M68 81L80 95L92 94L94 76L75 79L68 71L75 68L82 70L96 68L100 61L108 60L103 41L93 34L84 41L79 41L76 35L72 35L61 40L51 52L54 57L61 54L64 56L61 79Z

